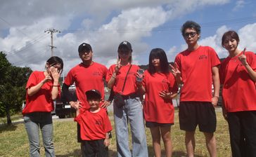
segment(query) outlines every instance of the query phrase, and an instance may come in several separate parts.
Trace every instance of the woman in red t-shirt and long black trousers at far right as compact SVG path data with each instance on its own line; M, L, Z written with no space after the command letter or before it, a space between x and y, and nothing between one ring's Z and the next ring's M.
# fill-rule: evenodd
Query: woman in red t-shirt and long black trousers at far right
M239 36L224 33L222 46L229 56L219 67L223 116L229 123L232 156L256 156L256 57L239 50Z

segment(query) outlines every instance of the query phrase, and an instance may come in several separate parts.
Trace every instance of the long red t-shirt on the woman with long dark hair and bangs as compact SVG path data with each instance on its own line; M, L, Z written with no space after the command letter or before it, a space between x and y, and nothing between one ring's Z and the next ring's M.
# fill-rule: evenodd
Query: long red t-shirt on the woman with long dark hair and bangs
M178 87L174 76L171 73L155 73L151 75L146 70L143 78L143 86L146 90L143 106L145 121L174 123L174 106L172 100L164 100L159 96L162 90L177 93Z

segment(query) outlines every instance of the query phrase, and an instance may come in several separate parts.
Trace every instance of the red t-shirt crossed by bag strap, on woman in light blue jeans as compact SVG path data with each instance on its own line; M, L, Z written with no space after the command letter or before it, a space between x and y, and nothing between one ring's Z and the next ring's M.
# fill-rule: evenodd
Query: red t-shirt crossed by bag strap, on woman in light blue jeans
M106 81L108 82L112 76L112 74L115 71L115 64L111 65L110 68L108 69L108 75L106 78ZM115 78L115 84L113 86L113 91L114 93L121 93L122 92L122 87L124 86L124 79L125 76L127 75L127 71L129 70L130 64L126 66L122 66L121 69L118 71L118 74ZM127 81L124 86L124 92L122 95L129 95L132 93L136 93L137 91L137 86L136 86L136 73L137 70L140 69L137 65L132 64L132 67L129 71L129 74L127 76Z

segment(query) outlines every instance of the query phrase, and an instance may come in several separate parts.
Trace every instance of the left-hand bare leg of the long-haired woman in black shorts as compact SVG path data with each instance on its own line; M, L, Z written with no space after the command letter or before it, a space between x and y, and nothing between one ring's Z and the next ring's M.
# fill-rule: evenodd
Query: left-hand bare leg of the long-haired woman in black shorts
M150 129L151 129L151 135L152 135L152 142L153 142L155 157L160 157L161 156L160 128L159 127L154 127L154 128L150 128Z

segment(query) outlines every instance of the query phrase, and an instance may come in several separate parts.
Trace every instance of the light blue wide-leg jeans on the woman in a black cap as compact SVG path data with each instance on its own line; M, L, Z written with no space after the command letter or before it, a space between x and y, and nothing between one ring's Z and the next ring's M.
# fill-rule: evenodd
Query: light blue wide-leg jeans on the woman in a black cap
M148 156L143 111L139 97L124 100L126 105L122 108L114 107L115 135L117 139L117 156ZM132 153L129 149L128 123L132 132Z

